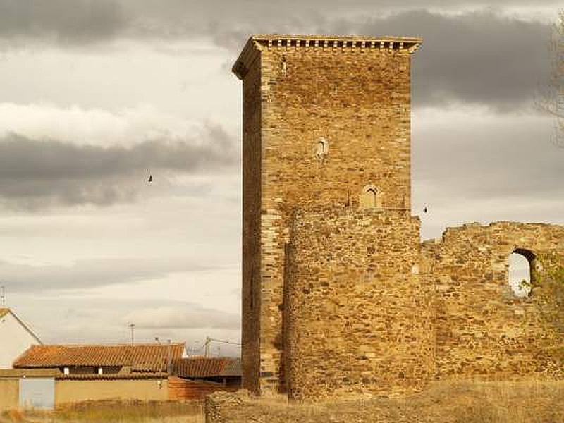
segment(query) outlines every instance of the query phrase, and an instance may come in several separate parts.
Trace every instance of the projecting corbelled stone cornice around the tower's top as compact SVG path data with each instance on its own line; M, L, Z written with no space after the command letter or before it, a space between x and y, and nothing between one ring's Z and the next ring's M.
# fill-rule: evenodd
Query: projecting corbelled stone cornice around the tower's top
M283 35L283 34L257 34L252 35L231 70L239 79L245 78L247 70L255 60L255 56L262 49L380 49L407 51L415 53L423 43L422 38L412 37L370 37L367 35Z

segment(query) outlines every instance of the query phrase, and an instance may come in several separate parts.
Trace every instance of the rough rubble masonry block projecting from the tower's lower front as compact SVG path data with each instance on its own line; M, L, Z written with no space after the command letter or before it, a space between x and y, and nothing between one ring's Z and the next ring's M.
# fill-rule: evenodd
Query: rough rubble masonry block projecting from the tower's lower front
M288 260L290 398L417 391L434 373L419 219L352 208L298 212Z

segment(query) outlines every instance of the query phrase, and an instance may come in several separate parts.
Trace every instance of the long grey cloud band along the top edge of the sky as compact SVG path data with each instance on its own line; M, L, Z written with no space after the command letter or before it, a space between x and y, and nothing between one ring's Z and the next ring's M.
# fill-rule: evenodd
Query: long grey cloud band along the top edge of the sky
M360 21L413 8L460 12L491 6L485 0L431 0L424 4L418 0L288 0L283 5L249 0L0 0L0 36L81 44L118 37L202 37L241 29L312 32L320 21L341 16L356 16ZM530 2L505 0L495 6L510 10L530 6ZM560 3L544 0L535 6L537 10L558 8Z

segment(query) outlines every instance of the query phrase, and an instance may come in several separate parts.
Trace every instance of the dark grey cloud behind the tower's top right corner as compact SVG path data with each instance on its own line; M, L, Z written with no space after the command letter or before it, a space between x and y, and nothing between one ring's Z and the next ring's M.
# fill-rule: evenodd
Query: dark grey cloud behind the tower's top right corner
M481 103L508 110L530 103L548 76L550 25L491 11L441 16L409 11L345 31L422 36L413 58L415 105Z

